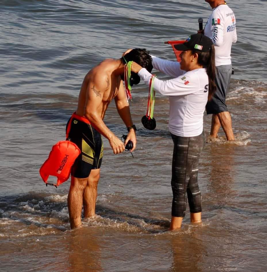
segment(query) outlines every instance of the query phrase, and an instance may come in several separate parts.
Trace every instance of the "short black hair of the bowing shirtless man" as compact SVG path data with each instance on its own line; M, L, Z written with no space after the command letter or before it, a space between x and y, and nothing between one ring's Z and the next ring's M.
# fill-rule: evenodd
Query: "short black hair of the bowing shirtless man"
M149 51L147 51L146 49L140 49L140 48L132 49L129 53L127 53L122 58L120 58L123 64L126 63L124 59L127 62L129 61L136 62L143 68L146 68L148 72L151 72L153 69L152 58L149 55Z

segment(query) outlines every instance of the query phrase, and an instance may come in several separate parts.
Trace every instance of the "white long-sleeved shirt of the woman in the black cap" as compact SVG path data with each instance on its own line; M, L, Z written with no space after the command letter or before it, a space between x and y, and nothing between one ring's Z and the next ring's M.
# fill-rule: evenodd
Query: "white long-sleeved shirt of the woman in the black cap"
M178 62L151 57L155 69L175 77L166 81L155 78L153 85L156 91L169 96L170 132L182 137L200 135L208 101L209 79L205 68L186 72L180 69ZM142 68L138 74L149 85L151 73Z

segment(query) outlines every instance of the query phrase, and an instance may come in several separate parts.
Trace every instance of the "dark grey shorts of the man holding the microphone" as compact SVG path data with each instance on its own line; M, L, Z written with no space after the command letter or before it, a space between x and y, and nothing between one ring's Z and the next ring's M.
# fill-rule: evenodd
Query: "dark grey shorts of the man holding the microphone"
M212 97L212 100L208 101L206 105L207 114L217 114L220 112L228 112L226 106L226 94L230 84L232 65L216 66L217 73L215 83L217 90Z

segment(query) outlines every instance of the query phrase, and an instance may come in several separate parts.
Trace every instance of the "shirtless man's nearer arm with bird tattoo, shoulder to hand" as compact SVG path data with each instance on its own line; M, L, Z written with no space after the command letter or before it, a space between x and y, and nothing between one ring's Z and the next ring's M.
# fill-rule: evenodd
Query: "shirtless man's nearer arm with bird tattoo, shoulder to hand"
M99 133L109 140L114 154L118 154L123 152L125 149L124 145L122 141L108 129L99 114L99 107L102 105L103 93L106 89L106 81L103 80L103 75L97 75L93 81L89 81L84 116L92 123Z

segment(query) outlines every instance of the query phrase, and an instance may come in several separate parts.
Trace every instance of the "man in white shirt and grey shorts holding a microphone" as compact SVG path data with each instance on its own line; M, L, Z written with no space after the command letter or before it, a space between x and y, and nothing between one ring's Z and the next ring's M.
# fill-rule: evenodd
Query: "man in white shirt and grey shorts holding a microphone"
M207 114L212 114L210 136L216 138L220 126L228 141L235 140L232 120L226 106L226 94L232 74L231 47L237 41L235 14L223 0L205 0L212 7L212 14L203 30L215 45L215 65L217 68L217 90L206 105ZM198 31L202 32L202 31Z

